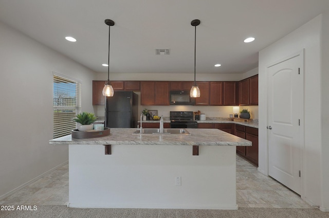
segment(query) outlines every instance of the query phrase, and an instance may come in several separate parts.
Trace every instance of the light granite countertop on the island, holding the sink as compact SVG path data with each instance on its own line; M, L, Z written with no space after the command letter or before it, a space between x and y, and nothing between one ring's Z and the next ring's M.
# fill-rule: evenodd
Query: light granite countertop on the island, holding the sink
M133 135L136 128L111 128L99 138L76 139L71 135L49 140L50 144L154 144L183 146L251 146L251 142L217 129L187 129L191 135Z

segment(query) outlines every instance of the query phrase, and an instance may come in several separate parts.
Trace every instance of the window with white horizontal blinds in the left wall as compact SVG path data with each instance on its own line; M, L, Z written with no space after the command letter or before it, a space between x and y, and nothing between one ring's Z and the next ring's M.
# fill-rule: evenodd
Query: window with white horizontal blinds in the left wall
M81 83L53 75L53 138L71 134L77 128L73 119L80 112Z

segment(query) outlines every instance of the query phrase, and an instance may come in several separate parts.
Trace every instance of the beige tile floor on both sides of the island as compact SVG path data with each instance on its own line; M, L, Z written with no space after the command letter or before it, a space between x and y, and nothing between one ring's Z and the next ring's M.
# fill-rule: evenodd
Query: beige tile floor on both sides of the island
M312 208L298 195L236 156L236 198L239 207ZM68 164L0 200L0 205L67 205Z

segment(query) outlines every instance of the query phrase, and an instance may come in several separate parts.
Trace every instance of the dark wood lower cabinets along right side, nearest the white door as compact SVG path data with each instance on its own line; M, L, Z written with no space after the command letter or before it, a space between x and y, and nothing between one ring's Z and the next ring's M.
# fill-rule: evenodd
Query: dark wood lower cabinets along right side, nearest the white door
M237 146L236 153L258 166L258 129L235 124L235 135L252 143L252 146Z

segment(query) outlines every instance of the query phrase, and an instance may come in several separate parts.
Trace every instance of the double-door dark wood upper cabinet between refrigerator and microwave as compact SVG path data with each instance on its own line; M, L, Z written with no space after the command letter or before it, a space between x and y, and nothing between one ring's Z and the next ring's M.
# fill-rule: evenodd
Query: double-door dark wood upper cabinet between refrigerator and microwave
M169 82L141 81L141 105L169 105Z

